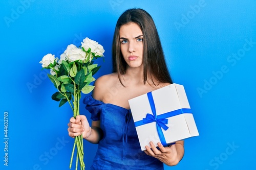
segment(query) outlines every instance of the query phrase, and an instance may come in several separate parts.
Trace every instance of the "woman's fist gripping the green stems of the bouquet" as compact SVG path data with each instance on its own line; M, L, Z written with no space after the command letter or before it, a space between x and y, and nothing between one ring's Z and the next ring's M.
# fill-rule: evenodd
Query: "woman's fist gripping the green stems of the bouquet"
M71 117L68 126L69 136L73 138L81 134L83 138L87 138L92 132L92 128L84 115L77 115L76 118Z

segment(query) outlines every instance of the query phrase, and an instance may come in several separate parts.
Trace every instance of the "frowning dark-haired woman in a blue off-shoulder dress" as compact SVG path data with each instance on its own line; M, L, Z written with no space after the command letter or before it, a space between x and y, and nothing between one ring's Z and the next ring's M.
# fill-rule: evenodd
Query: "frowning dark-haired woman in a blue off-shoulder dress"
M140 149L129 99L172 84L155 23L146 11L129 9L118 19L112 47L114 72L95 81L92 96L84 99L92 113L72 117L71 137L98 143L91 169L163 169L178 164L184 141L158 148L152 142Z

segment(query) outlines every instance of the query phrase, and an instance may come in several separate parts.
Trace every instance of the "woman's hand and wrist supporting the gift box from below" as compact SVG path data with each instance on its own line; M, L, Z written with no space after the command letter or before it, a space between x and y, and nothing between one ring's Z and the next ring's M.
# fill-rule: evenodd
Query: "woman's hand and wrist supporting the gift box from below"
M145 146L146 150L144 152L149 156L159 159L168 166L177 165L184 155L184 141L178 141L169 147L163 147L160 142L157 145L159 149L155 147L153 142L150 142L151 148Z

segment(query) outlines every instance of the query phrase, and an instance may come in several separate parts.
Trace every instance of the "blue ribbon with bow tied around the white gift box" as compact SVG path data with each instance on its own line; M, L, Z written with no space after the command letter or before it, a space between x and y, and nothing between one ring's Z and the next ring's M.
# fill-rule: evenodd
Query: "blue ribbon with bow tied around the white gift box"
M168 126L166 126L166 124L168 124L167 118L172 117L172 116L177 116L182 113L192 113L191 109L182 108L182 109L178 109L178 110L174 110L174 111L170 111L170 112L167 112L164 114L157 115L152 92L147 93L147 98L148 98L148 101L150 102L150 107L151 107L153 115L150 113L147 113L145 118L134 123L135 127L149 124L152 122L156 122L157 133L160 138L160 141L163 144L163 146L166 146L167 143L166 143L166 140L165 140L165 137L163 135L163 131L161 128L163 128L165 131L169 128Z

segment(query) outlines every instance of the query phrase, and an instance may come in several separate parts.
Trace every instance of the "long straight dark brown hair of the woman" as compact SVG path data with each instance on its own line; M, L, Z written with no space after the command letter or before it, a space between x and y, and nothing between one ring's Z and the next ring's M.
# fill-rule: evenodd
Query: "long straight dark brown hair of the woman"
M127 23L134 22L140 27L143 34L143 82L149 78L154 85L159 83L172 84L172 78L166 66L160 38L153 18L145 10L129 9L119 17L116 23L112 45L113 72L117 72L118 79L125 74L126 62L120 50L119 30ZM153 80L158 82L154 82ZM122 84L123 85L123 84Z

